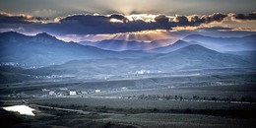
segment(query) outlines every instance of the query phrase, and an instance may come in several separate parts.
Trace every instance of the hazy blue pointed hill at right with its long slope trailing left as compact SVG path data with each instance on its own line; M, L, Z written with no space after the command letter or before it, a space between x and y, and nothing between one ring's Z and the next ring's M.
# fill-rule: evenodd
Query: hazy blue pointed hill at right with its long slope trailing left
M149 73L174 73L185 70L247 68L254 65L239 55L220 53L198 44L191 44L176 51L140 59L74 60L62 65L34 70L56 74L72 74L79 78L97 78Z

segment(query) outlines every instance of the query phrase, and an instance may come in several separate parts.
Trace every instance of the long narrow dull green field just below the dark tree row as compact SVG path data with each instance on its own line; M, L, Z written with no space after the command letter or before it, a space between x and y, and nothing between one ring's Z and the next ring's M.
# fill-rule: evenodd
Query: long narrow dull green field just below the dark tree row
M206 101L179 101L179 100L150 100L150 99L125 99L125 98L82 98L82 97L54 97L30 99L33 103L60 105L60 106L106 106L109 108L159 108L159 109L243 109L256 108L256 104L206 102Z

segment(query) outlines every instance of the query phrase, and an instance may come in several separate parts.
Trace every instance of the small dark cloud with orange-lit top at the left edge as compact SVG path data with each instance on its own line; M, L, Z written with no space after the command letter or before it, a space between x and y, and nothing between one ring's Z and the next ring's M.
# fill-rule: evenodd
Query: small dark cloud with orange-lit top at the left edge
M47 20L40 17L32 17L31 15L12 15L8 13L0 13L0 24L31 24Z

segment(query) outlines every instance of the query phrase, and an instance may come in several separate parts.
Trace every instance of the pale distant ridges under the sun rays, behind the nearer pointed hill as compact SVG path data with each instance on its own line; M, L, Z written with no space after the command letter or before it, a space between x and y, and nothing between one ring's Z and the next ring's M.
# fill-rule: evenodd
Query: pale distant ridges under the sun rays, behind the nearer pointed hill
M91 45L97 48L112 51L143 50L150 53L167 53L170 51L174 51L178 48L181 48L182 46L186 46L188 44L186 42L190 42L192 44L200 44L209 49L214 49L220 52L230 52L256 50L255 40L256 34L241 37L213 37L201 34L190 34L183 38L180 38L179 40L176 40L176 38L167 38L153 40L151 42L144 42L136 40L127 41L105 39L96 42L80 41L79 43L82 45Z

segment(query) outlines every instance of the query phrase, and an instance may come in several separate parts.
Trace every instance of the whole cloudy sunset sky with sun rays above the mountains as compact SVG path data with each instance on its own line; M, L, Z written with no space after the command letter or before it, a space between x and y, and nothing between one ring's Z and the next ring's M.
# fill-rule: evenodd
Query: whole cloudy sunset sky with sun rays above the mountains
M73 41L256 32L255 5L255 0L1 0L0 32L48 32Z

